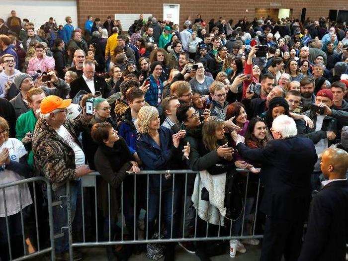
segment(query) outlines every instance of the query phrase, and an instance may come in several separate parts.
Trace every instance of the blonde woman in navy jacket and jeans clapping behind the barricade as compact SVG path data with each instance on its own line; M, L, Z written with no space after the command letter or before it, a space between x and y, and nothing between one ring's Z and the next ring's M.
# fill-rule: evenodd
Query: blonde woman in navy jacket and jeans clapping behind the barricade
M160 126L158 110L153 106L143 106L139 110L137 124L140 134L136 141L136 151L143 163L143 169L147 171L173 170L174 161L180 160L179 158L182 156L178 147L180 138L184 136L184 131L173 134L171 129ZM162 213L164 214L163 221L167 230L164 237L166 239L171 238L171 231L173 231L173 238L177 238L178 220L176 216L180 196L178 182L173 181L171 174L152 174L148 178L148 238L151 238L156 232L155 220L160 207L160 197L162 203L164 203ZM174 193L172 192L173 186ZM166 260L174 260L174 247L174 243L167 244Z

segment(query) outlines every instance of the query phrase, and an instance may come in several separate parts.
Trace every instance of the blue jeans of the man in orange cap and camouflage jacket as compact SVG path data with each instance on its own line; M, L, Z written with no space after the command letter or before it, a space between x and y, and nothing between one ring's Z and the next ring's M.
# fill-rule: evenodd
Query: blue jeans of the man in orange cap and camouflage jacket
M56 191L52 191L52 202L60 200L60 196L66 195L66 184L60 187ZM70 181L70 204L71 204L71 223L73 224L74 230L81 230L81 180ZM68 226L68 210L67 200L62 198L62 205L53 207L53 230L54 234L63 232L64 236L55 240L56 253L63 253L69 251L69 231L62 227Z

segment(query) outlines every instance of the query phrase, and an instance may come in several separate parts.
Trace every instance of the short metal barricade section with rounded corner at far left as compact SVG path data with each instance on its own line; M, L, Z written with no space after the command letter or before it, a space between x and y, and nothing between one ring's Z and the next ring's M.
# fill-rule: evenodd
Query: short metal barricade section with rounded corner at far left
M40 235L39 235L39 227L41 226L41 224L39 224L38 222L38 206L37 206L37 191L36 191L36 186L35 184L37 184L38 182L40 183L44 183L45 187L47 188L47 209L48 209L48 226L49 226L49 239L50 239L50 246L44 249L41 249L40 246ZM30 185L32 184L32 189L33 189L33 197L32 197L32 203L33 207L34 207L34 215L35 215L35 233L36 233L36 247L37 250L34 253L29 254L28 250L27 250L27 246L26 246L26 238L25 238L25 233L24 233L24 227L25 227L25 220L24 220L24 211L23 211L23 199L22 199L22 190L24 189L24 185ZM19 207L20 207L20 226L21 226L21 237L22 237L22 244L23 244L23 253L24 256L16 258L15 260L27 260L30 258L34 258L37 257L39 255L45 254L45 253L51 253L51 260L55 260L55 248L54 248L54 235L53 235L53 215L52 215L52 196L51 196L51 184L49 183L49 181L44 178L44 177L31 177L31 178L27 178L27 179L22 179L22 180L18 180L18 181L13 181L13 182L9 182L9 183L5 183L5 184L0 184L0 193L3 197L3 202L0 202L0 204L4 206L4 211L5 211L5 223L6 223L6 236L8 239L8 253L9 253L9 260L13 260L12 259L12 250L14 248L20 248L21 246L15 245L13 246L11 244L11 228L10 229L10 224L9 224L9 219L11 218L11 215L8 215L8 204L6 202L6 188L8 190L8 188L12 188L13 186L16 186L18 189L18 195L19 195ZM27 187L28 188L28 187ZM30 205L31 205L30 204ZM25 208L25 206L24 206ZM18 213L15 213L13 215L16 215ZM47 231L45 232L47 233Z

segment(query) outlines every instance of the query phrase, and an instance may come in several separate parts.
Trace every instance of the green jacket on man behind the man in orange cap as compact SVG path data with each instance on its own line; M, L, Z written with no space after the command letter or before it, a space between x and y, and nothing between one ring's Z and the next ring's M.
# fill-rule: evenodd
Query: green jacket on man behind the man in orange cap
M27 132L30 131L31 133L34 133L36 122L37 118L35 117L35 114L32 109L20 115L16 122L16 138L22 141ZM31 149L31 143L24 144L24 146L29 153L27 159L28 164L30 167L33 167L34 156L33 151Z

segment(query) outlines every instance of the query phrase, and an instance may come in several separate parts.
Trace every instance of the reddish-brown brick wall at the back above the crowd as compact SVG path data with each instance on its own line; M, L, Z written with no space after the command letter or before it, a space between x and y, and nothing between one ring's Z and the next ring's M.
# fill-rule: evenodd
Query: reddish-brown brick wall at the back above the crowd
M328 16L329 9L344 10L346 7L348 8L346 0L77 0L78 22L79 26L83 28L87 15L99 17L104 22L108 15L113 16L115 13L142 12L152 13L158 20L162 20L163 3L180 4L180 24L187 16L190 15L194 19L198 13L206 22L209 22L211 18L218 19L221 15L226 20L232 18L236 23L243 16L247 16L249 21L252 21L256 8L292 9L292 14L296 19L301 18L302 8L307 8L306 17L313 19ZM124 28L124 30L128 30L128 28Z

